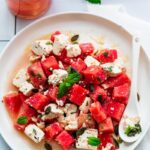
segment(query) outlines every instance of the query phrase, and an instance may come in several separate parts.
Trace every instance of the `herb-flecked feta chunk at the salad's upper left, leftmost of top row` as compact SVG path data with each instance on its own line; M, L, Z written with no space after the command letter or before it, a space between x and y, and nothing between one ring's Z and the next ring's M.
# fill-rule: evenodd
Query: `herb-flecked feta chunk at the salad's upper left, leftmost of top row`
M37 40L32 44L32 51L39 56L50 54L52 49L53 46L50 40Z

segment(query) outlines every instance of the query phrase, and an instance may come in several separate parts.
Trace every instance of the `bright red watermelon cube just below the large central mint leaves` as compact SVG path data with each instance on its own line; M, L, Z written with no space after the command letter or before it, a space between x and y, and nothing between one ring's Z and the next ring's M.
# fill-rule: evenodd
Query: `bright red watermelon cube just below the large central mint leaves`
M88 90L78 84L74 84L70 92L70 101L74 104L81 105L88 94Z

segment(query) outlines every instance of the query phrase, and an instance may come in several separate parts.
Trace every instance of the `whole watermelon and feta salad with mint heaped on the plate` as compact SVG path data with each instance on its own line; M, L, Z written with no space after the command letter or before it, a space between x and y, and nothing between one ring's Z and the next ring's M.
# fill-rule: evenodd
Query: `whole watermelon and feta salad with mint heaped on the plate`
M16 130L64 150L116 150L131 81L117 49L95 50L80 36L56 31L32 44L29 66L3 97Z

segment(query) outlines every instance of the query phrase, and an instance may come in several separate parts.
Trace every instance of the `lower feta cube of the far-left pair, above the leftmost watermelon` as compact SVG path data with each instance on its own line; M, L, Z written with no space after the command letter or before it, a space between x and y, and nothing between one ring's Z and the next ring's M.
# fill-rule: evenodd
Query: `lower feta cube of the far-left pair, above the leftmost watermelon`
M24 95L31 94L32 90L34 89L33 85L29 82L23 82L19 91L22 92Z

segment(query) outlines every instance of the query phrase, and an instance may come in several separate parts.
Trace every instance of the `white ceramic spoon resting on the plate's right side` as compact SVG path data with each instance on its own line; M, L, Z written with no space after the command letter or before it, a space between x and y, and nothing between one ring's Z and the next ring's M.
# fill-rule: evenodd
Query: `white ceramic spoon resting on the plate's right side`
M140 117L139 108L138 108L138 101L137 101L137 76L138 76L138 61L139 61L139 54L140 54L140 43L138 38L133 38L132 42L132 82L131 82L131 91L129 96L129 101L127 107L124 111L123 116L128 117ZM124 133L124 117L122 117L119 123L119 135L124 142L132 143L135 142L140 134L136 134L133 137L128 137Z

